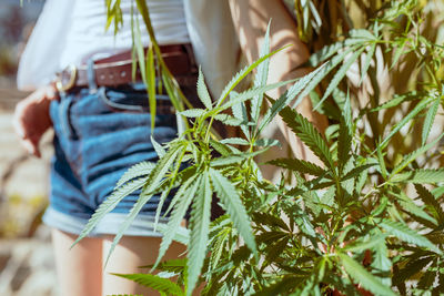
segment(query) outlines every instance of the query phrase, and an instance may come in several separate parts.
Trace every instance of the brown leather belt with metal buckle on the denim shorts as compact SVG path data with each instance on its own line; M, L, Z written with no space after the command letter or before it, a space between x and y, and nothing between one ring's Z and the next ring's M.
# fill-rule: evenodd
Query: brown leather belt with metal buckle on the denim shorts
M160 45L163 61L179 84L195 84L196 65L191 44ZM135 79L132 78L131 51L113 54L109 58L94 61L94 76L98 86L119 86L134 81L141 81L140 70L137 70ZM73 88L88 86L87 65L69 65L58 74L56 85L59 91L67 92Z

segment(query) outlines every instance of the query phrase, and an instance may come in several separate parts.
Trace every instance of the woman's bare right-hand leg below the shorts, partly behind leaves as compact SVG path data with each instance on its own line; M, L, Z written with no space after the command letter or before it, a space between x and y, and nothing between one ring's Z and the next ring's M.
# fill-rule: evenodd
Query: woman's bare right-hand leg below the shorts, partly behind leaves
M103 239L103 262L108 256L113 238L114 236L110 235L105 236ZM161 239L160 237L123 236L103 271L103 295L159 295L151 289L143 288L132 280L111 275L111 273L147 273L149 269L141 269L139 266L153 264L155 262ZM178 258L185 249L184 245L173 242L163 259Z

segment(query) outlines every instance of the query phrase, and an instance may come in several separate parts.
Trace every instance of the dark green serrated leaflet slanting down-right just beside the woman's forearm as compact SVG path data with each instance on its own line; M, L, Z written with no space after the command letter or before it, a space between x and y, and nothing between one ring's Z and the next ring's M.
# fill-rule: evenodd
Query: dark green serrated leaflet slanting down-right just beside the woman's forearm
M333 159L329 146L320 132L296 111L284 108L280 112L286 125L307 145L313 153L329 167L333 167Z

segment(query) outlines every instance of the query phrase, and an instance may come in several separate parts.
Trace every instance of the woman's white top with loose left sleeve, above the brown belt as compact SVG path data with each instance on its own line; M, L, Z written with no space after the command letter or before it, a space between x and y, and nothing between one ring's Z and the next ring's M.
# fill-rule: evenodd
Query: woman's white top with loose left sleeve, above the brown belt
M183 0L147 0L147 4L159 44L190 42ZM134 24L138 18L142 43L147 45L150 38L133 0L121 0L123 24L117 35L113 24L105 31L103 0L47 0L19 64L19 89L46 84L54 72L84 63L93 53L130 49L131 6Z

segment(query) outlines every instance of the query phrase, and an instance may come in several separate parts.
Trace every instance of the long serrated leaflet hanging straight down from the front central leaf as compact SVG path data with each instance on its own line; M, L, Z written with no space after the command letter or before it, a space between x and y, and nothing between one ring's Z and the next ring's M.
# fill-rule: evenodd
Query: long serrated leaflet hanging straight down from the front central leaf
M191 210L190 244L188 247L188 286L186 295L191 295L198 283L203 261L206 256L206 244L210 231L212 190L208 172L203 180Z

